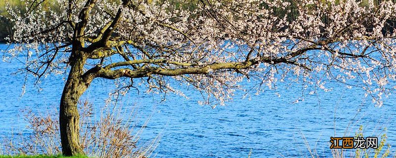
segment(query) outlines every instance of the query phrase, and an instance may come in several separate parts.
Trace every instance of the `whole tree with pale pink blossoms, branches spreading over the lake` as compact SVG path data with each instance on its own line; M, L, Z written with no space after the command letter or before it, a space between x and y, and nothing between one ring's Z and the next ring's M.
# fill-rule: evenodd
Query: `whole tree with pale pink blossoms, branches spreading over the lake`
M381 105L396 79L390 0L45 2L26 1L22 15L8 9L15 42L3 58L23 58L38 82L68 73L59 113L66 156L83 154L77 102L97 78L118 80L123 92L139 84L182 94L173 80L212 105L232 99L244 79L258 83L257 93L285 79L323 89L335 80Z

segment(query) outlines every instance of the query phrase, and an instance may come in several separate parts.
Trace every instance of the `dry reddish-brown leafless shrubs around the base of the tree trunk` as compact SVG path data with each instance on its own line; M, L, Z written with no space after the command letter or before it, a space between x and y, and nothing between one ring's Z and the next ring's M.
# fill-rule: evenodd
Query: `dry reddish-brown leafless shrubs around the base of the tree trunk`
M148 123L148 119L141 128L136 129L134 112L126 112L109 103L99 115L94 115L93 104L88 101L80 102L80 143L88 156L98 158L148 158L158 144L157 136L152 141L139 143L140 135ZM61 153L59 121L56 113L46 115L35 114L32 110L25 110L27 129L32 131L29 136L21 133L12 138L4 139L2 155L57 155ZM100 116L96 118L95 116ZM127 116L127 118L125 118ZM138 147L141 145L142 147Z

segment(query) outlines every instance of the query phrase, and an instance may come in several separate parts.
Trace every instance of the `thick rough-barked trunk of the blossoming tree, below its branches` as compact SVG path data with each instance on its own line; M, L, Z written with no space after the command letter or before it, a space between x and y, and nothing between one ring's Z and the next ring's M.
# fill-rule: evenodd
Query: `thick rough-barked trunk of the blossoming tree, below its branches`
M84 154L80 145L80 115L77 103L89 83L85 83L81 77L85 63L84 57L81 55L71 61L71 69L63 88L59 108L60 139L64 156Z

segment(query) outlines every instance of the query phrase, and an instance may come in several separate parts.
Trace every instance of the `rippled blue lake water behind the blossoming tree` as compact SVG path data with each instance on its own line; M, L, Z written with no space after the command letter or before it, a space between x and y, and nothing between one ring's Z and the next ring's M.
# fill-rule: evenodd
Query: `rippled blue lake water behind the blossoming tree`
M0 62L0 139L16 130L29 134L24 130L21 110L29 107L47 112L58 108L64 76L46 78L40 93L32 85L33 78L28 78L26 93L19 97L25 76L11 74L22 66L15 61ZM375 107L362 89L330 82L327 87L331 91L305 94L303 101L293 104L301 97L302 88L291 85L278 83L280 97L274 90L251 95L250 99L237 92L233 102L215 109L198 105L197 91L187 93L191 99L168 94L161 102L160 95L132 90L119 104L126 109L136 104L143 119L151 115L142 141L161 134L154 151L156 158L247 158L250 150L251 158L309 157L303 136L320 157L330 157L330 137L335 133L344 136L348 126L346 136L354 136L360 125L365 137L376 136L387 127L387 143L396 145L394 95L384 99L382 107ZM83 98L89 98L99 111L113 88L112 81L97 79Z

